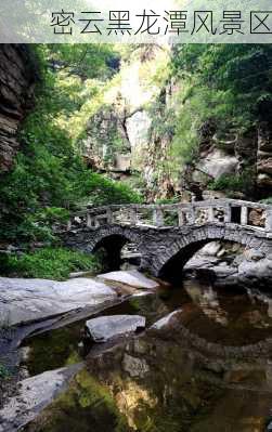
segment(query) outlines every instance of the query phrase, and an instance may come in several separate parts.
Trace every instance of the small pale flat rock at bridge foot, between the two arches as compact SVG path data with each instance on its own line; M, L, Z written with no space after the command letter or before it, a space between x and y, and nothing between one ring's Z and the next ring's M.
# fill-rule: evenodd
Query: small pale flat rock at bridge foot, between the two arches
M137 270L111 272L99 275L98 277L104 280L119 282L134 288L154 289L158 287L158 283L150 279Z

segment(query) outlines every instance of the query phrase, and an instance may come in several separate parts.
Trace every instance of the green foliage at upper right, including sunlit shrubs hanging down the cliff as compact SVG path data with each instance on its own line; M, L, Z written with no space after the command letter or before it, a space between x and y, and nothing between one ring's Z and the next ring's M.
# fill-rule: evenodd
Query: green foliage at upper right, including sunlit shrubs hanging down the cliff
M198 156L199 128L211 120L217 134L247 132L271 121L272 49L269 44L176 45L172 76L180 83L173 169ZM177 167L174 167L174 165Z

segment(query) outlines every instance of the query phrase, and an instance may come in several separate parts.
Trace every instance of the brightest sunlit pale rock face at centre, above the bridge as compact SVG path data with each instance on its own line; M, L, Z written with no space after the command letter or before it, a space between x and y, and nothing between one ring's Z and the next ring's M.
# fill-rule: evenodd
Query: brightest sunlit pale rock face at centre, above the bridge
M157 70L167 65L169 53L156 45L137 49L122 61L118 75L104 92L101 107L89 119L82 153L87 162L109 172L139 170L143 176L152 116L163 83Z

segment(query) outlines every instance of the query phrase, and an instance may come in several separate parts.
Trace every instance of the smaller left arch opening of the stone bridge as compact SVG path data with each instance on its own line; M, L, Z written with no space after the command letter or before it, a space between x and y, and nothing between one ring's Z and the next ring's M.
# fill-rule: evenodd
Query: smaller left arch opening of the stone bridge
M132 263L137 263L137 259L140 260L140 256L138 257L135 248L137 245L125 235L111 234L102 238L95 245L93 251L100 256L102 260L103 271L114 272L120 270L121 265L125 262L129 263L131 261ZM131 249L133 250L133 252L131 252Z

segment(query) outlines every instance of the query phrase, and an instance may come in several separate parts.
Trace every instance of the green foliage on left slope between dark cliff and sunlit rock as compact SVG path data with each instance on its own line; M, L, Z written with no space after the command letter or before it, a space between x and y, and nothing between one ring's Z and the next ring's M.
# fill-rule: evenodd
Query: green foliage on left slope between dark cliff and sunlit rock
M138 199L128 187L92 174L77 146L90 113L100 106L101 88L118 67L113 47L36 45L35 51L41 74L36 105L21 131L23 150L0 178L4 241L54 240L51 226L82 200Z

